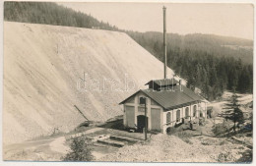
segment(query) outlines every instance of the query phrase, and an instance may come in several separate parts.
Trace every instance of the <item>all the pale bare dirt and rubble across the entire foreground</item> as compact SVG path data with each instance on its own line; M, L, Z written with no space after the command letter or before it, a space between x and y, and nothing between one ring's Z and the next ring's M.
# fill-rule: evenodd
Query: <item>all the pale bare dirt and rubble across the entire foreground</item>
M206 125L198 127L196 131L180 131L172 136L151 135L147 141L141 140L120 148L102 144L90 147L95 156L94 161L129 162L236 162L243 157L243 153L251 151L246 144L233 141L231 138L215 137L213 125L214 120L208 119ZM104 128L93 128L84 133L90 137L105 134L133 135ZM61 157L69 150L66 138L75 135L78 134L9 145L4 148L4 159L61 161ZM138 137L143 138L143 134L136 134L136 138ZM242 134L237 135L237 138L245 140ZM251 137L247 137L246 141L252 144Z

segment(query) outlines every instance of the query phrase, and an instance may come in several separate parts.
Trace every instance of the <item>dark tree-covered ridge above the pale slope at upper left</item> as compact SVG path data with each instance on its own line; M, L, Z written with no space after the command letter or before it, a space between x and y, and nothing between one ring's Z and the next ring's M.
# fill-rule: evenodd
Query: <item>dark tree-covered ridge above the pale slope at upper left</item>
M4 20L76 28L118 30L118 28L108 23L97 21L91 15L74 11L53 2L5 2Z

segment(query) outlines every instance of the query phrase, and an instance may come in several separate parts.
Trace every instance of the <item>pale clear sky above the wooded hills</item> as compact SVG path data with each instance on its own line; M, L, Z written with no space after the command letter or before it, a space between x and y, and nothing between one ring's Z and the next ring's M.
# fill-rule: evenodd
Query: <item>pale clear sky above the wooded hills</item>
M253 39L253 5L196 3L58 3L117 28L162 31L162 7L166 9L167 32L211 33Z

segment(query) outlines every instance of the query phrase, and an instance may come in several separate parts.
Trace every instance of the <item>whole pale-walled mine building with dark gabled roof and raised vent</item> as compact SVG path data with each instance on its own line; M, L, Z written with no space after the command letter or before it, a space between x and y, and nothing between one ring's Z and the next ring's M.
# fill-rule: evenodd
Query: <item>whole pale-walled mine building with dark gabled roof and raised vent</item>
M123 124L126 128L143 129L146 122L149 131L169 133L172 127L187 121L207 118L207 102L194 91L174 79L146 83L148 89L140 89L122 102ZM145 117L145 103L147 98Z

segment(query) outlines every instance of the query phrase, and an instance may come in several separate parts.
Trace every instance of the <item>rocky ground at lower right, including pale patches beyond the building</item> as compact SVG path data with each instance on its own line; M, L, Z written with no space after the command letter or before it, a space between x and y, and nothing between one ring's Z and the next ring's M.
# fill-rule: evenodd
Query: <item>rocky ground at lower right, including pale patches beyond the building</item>
M223 110L225 100L231 95L224 92L221 101L211 103L216 115ZM238 94L240 103L246 111L246 103L252 101L251 94ZM206 121L205 126L196 131L177 130L171 136L153 135L146 142L119 148L100 161L134 161L134 162L250 162L252 159L252 133L240 133L229 137L216 136L215 125L223 119L214 116ZM239 141L236 140L239 139Z

